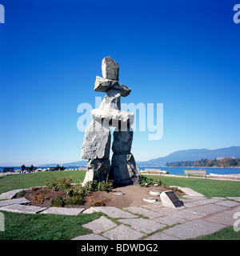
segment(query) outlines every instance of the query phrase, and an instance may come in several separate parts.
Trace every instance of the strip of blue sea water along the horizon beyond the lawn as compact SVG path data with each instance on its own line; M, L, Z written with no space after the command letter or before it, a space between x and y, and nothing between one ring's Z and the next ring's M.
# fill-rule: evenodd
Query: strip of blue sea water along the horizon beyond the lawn
M3 170L3 166L0 167L0 172ZM42 169L47 168L45 167L39 167ZM66 170L69 169L75 169L78 168L78 166L70 166L66 167ZM145 170L147 169L161 169L161 170L166 170L170 174L175 174L175 175L181 175L184 174L183 170L206 170L206 174L240 174L240 168L204 168L204 167L139 167L140 170ZM20 170L20 166L14 166L14 170Z

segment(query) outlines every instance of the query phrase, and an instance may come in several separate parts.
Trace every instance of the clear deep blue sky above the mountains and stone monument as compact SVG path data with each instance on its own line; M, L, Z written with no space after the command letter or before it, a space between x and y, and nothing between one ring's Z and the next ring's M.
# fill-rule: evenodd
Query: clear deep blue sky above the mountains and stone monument
M136 131L136 160L240 145L239 1L0 3L0 166L81 160L77 107L104 97L106 56L132 89L122 102L163 103L163 137Z

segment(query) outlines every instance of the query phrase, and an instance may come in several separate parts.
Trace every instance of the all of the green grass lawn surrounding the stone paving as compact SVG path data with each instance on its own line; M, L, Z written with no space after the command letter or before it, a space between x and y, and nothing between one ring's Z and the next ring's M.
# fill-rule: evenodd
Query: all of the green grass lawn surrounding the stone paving
M82 182L85 177L84 170L67 170L41 172L35 174L14 174L0 177L0 194L9 190L43 186L45 181L52 177L72 177L73 182ZM159 176L147 176L159 178ZM240 183L217 181L198 178L174 178L161 176L162 182L169 186L190 187L206 195L206 197L240 196ZM5 231L0 232L0 240L53 240L70 239L82 234L90 234L91 230L82 227L83 224L99 218L102 213L80 214L66 216L57 214L14 214L2 212L5 218ZM227 227L218 232L197 239L203 240L239 240L240 232L233 227Z

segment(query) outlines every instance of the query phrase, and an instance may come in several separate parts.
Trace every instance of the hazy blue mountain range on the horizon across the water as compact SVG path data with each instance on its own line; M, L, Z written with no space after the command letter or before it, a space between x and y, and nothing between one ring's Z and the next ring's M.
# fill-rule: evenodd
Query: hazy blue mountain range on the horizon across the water
M166 157L150 159L144 162L137 162L138 167L160 167L165 166L166 162L177 161L197 161L201 159L214 158L240 158L240 146L230 146L218 150L178 150L168 154ZM87 161L66 162L63 166L86 166ZM46 164L46 166L56 166L56 163Z

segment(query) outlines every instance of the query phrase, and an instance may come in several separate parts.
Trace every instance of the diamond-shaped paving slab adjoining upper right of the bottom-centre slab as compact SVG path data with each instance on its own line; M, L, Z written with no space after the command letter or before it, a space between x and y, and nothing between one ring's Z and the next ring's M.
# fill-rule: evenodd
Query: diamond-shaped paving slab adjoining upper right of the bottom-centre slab
M138 230L146 234L153 233L154 231L160 230L166 226L146 218L118 219L118 222L129 224L132 228L134 228L134 230Z

